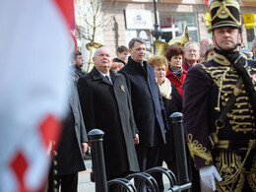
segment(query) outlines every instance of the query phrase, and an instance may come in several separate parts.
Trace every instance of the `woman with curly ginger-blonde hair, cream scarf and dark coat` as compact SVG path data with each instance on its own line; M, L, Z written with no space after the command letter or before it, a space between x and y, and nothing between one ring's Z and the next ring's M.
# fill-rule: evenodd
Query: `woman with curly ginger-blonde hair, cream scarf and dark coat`
M174 85L172 85L167 78L165 78L166 70L168 69L167 60L163 56L153 56L148 60L148 64L152 65L156 74L156 78L160 87L160 95L162 96L163 105L167 117L173 112L181 112L182 98ZM169 131L165 133L166 145L160 148L159 165L162 165L164 160L175 175L177 175L177 165L175 159L175 148L173 139L173 130L170 118L168 118ZM162 179L159 175L158 183L160 191L163 191Z

